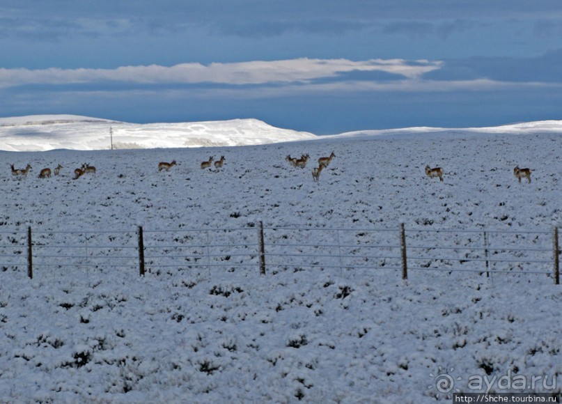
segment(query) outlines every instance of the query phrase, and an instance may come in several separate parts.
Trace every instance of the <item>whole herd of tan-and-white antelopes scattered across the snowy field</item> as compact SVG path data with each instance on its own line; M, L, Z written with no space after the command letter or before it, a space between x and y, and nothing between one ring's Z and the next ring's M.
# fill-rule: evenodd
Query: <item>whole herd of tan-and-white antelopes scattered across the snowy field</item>
M331 160L334 159L334 157L336 157L336 155L332 151L328 157L320 157L318 159L318 167L314 167L312 169L312 179L314 182L318 182L318 180L320 179L320 173L322 173L323 169L329 166ZM290 155L287 155L287 157L285 157L285 160L290 164L290 166L297 167L300 169L304 169L306 167L306 164L309 162L309 159L310 156L305 153L303 153L299 158L291 157ZM209 169L212 166L213 160L214 158L210 156L209 160L205 160L204 162L201 162L201 169ZM226 159L224 158L224 155L221 155L220 160L214 161L214 168L221 169L225 161ZM175 165L177 165L175 160L172 160L172 162L159 162L158 171L162 171L162 170L169 171L171 167ZM20 178L26 177L29 170L32 169L31 164L27 164L24 169L16 169L14 167L14 164L10 164L10 168L12 170L12 176L16 176ZM61 166L61 164L58 164L53 171L51 171L51 169L48 167L42 169L39 173L39 178L51 178L52 173L54 173L55 176L58 176L61 173L61 169L63 169L63 166ZM443 181L444 171L442 167L431 168L430 166L426 165L424 170L428 178L439 177L439 181ZM95 166L91 166L89 163L84 163L79 168L75 169L74 171L75 176L72 179L77 180L81 176L84 176L84 174L86 173L95 174L95 172L96 172ZM515 176L515 178L517 178L517 180L519 180L519 182L521 182L522 178L526 178L527 183L531 183L532 172L533 170L531 169L520 169L519 166L515 166L515 168L513 169L513 175Z

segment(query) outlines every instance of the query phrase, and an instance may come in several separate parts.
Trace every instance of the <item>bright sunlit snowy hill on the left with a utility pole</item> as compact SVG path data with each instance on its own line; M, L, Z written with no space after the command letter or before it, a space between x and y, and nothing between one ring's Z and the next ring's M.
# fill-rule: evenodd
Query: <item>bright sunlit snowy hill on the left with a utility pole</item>
M313 134L280 129L257 119L137 124L74 115L0 118L0 150L107 150L111 137L117 149L247 146L315 139Z

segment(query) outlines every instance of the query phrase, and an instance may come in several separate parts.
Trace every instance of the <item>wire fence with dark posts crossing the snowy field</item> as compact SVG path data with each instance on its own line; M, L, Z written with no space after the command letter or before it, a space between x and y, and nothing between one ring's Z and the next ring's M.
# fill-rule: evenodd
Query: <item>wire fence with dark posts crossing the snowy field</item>
M0 231L0 271L131 269L139 275L206 270L384 270L530 274L560 284L559 231L263 226L129 231Z

